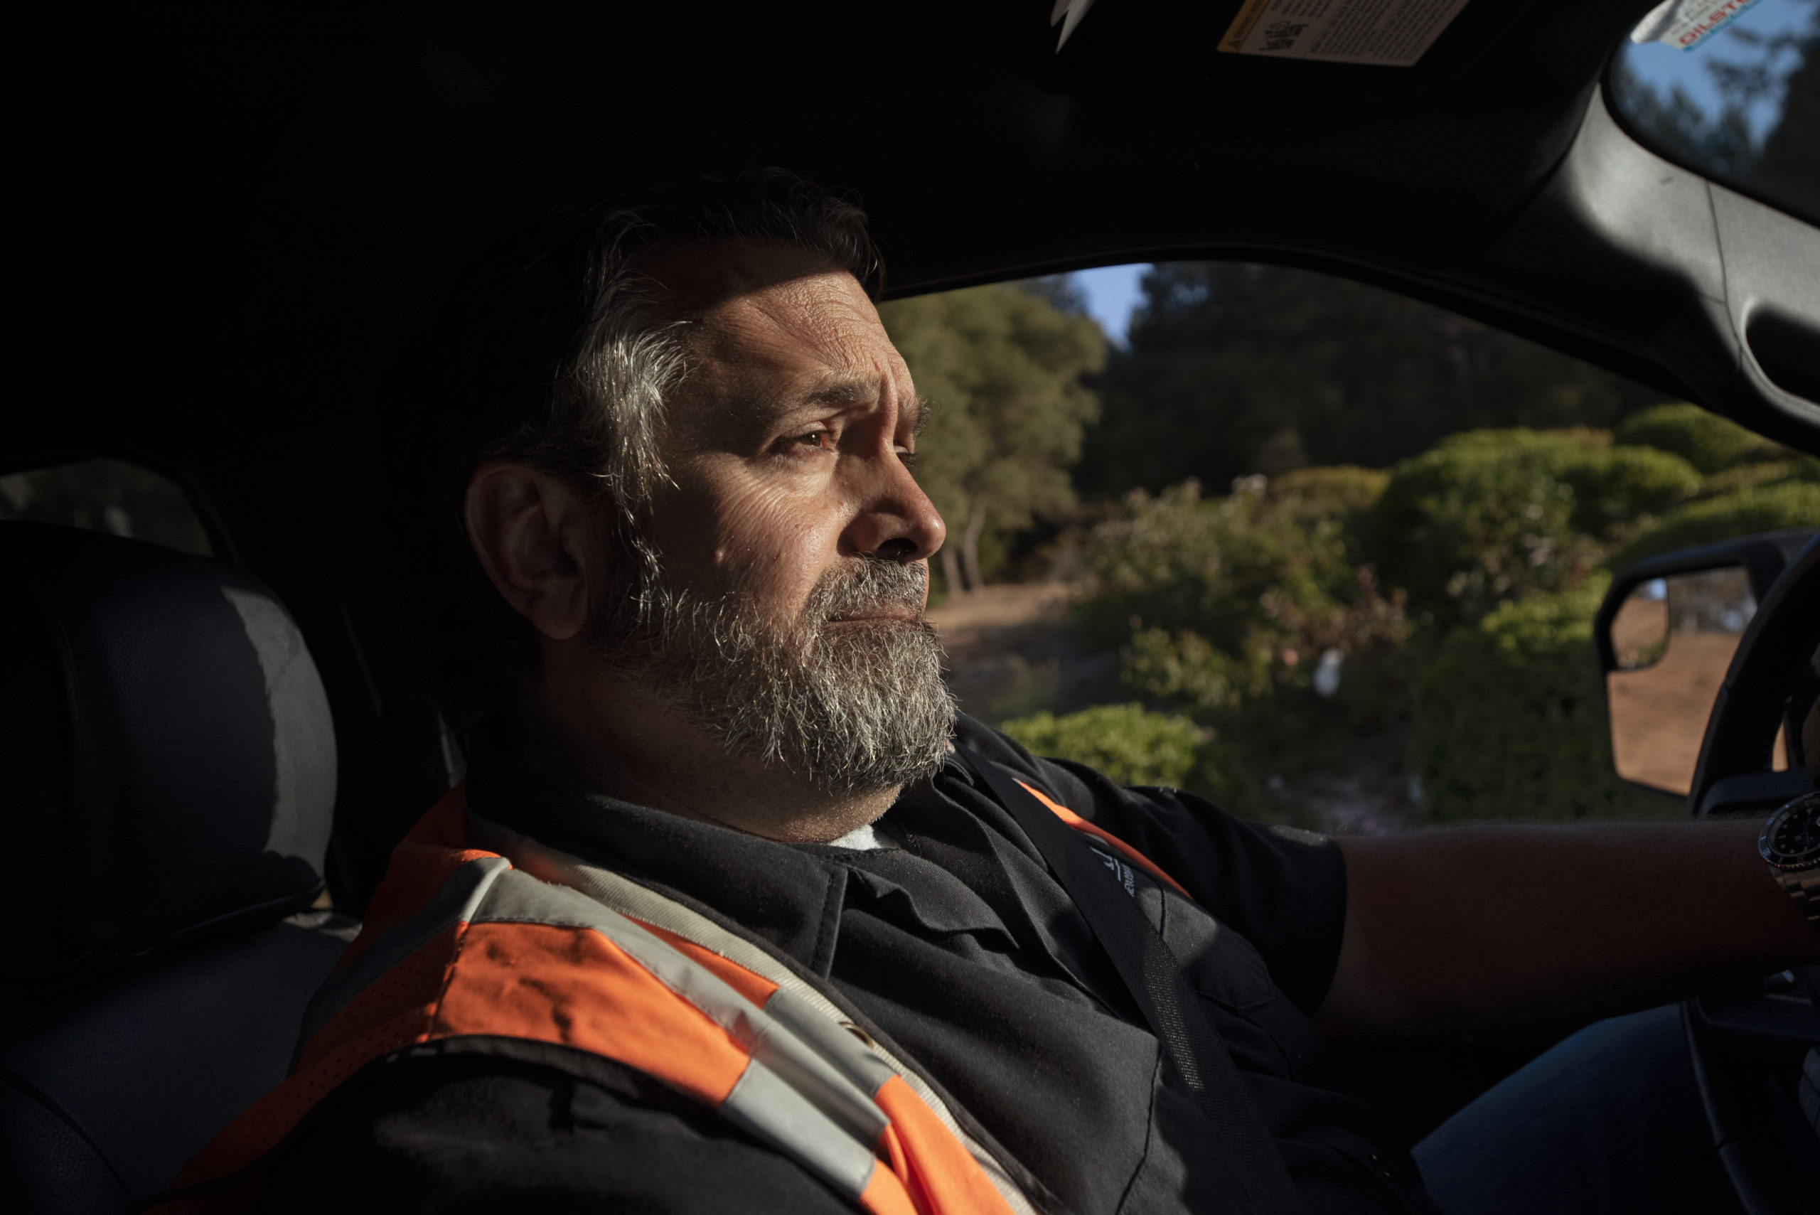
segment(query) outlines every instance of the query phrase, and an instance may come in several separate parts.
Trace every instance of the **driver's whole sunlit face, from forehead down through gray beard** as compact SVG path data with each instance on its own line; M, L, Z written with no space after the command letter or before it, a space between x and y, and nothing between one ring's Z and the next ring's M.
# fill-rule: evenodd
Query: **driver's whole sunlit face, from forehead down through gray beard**
M661 573L646 613L597 617L597 651L730 753L826 791L928 771L954 718L923 620L945 531L877 311L788 247L697 247L653 276L688 349L648 515Z

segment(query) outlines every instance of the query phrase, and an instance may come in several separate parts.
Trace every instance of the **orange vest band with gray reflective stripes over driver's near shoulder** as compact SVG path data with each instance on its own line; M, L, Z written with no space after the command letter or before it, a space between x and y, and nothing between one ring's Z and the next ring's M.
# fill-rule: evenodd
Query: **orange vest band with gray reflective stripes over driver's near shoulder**
M877 1215L1032 1211L921 1079L841 1022L752 942L471 817L457 788L393 853L362 935L306 1013L291 1077L177 1188L251 1166L382 1055L490 1035L635 1068Z

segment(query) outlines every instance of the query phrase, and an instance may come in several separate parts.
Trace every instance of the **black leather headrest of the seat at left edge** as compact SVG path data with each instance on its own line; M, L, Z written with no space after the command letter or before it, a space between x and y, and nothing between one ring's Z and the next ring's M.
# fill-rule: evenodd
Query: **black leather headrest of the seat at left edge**
M308 906L333 809L328 697L269 589L153 544L0 522L0 979Z

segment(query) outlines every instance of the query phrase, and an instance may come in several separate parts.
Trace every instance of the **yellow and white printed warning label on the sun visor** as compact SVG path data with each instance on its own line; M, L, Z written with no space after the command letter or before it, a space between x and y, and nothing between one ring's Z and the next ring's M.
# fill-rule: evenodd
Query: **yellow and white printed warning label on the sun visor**
M1245 0L1221 51L1409 67L1467 0Z

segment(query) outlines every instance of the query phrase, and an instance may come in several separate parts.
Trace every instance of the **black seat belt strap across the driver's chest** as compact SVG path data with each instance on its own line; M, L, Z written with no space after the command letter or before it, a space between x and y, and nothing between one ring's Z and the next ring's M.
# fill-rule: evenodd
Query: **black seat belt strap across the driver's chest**
M1112 957L1119 979L1161 1044L1163 1059L1232 1153L1252 1210L1258 1215L1298 1215L1301 1199L1238 1068L1232 1066L1227 1044L1207 1019L1176 955L1138 908L1136 897L1114 879L1079 831L1057 818L1005 768L961 746L956 746L956 753L986 782L1043 853L1094 937Z

